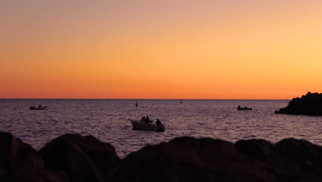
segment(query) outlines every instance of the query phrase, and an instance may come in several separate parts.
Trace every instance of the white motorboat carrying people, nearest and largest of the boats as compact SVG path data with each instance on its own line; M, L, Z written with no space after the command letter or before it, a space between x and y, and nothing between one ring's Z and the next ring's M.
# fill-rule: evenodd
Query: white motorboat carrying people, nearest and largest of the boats
M165 126L158 119L155 124L149 117L142 117L140 120L129 119L131 121L134 130L151 130L155 132L164 132Z

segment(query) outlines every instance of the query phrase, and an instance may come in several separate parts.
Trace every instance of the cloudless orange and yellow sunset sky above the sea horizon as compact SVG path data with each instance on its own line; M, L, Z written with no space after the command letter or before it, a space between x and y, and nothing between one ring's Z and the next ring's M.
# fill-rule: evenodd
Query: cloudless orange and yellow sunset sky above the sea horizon
M0 1L0 98L322 92L320 0Z

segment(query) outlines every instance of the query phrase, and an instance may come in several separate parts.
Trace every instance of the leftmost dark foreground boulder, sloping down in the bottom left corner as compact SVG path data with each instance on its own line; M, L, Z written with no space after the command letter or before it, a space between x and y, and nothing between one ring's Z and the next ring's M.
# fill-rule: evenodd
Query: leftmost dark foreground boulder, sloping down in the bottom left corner
M12 134L0 132L0 145L0 181L67 181L47 172L41 156Z

